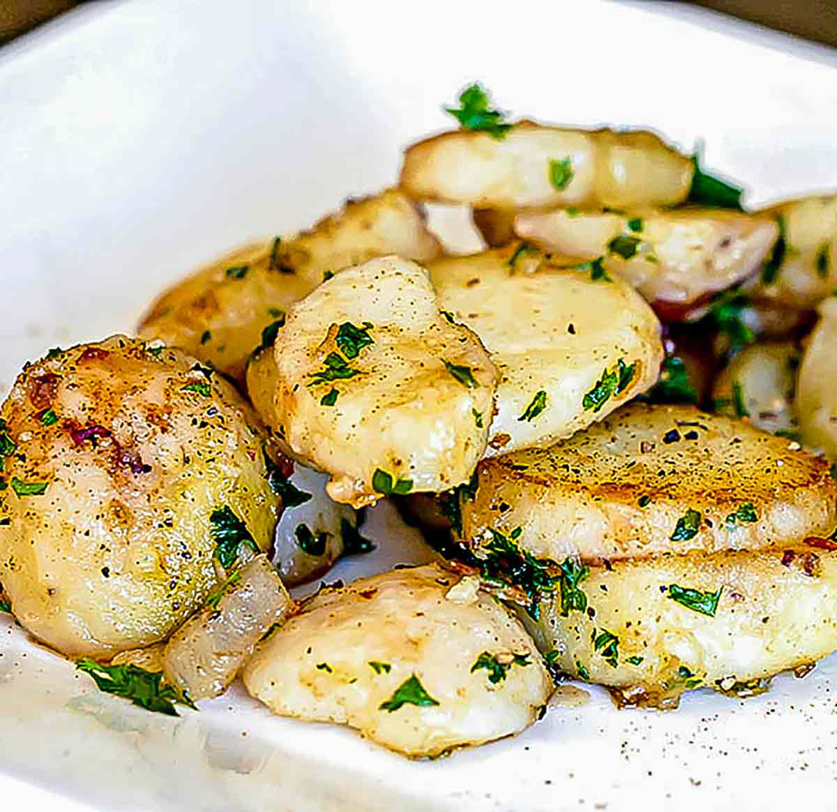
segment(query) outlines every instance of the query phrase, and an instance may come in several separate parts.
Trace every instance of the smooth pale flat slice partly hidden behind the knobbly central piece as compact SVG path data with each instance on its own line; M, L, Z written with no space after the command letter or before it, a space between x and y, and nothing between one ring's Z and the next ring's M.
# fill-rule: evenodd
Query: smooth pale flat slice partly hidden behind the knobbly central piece
M519 244L429 264L439 307L500 370L486 456L568 437L649 389L660 323L629 285ZM593 278L595 277L595 278Z

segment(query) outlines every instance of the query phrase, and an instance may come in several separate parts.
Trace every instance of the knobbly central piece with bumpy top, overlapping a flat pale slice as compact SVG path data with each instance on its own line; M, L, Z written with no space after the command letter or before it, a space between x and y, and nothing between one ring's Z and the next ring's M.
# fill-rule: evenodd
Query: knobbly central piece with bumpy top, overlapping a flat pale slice
M485 452L496 367L414 262L383 257L322 284L290 308L274 357L270 425L331 474L338 502L449 489Z

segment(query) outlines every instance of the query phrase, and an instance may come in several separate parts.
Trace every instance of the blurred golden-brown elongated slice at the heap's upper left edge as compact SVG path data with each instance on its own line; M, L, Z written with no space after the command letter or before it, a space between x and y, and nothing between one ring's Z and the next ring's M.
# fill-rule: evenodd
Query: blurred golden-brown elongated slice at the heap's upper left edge
M426 261L439 242L403 194L389 189L350 200L336 215L289 239L256 243L178 282L143 318L139 333L163 339L244 380L262 331L324 277L372 256Z

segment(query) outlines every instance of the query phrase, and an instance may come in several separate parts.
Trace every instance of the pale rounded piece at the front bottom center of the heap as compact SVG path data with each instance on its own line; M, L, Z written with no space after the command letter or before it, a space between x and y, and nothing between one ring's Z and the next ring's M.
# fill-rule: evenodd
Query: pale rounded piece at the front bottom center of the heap
M243 677L275 713L346 724L413 757L519 732L552 692L520 621L478 579L434 564L326 587Z

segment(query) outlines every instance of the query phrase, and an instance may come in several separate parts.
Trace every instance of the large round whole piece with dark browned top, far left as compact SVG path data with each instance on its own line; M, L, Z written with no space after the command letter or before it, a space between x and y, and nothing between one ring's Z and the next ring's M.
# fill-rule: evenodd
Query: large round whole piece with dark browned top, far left
M0 580L18 621L71 656L167 637L239 550L266 550L267 437L226 380L114 336L53 351L3 403Z

